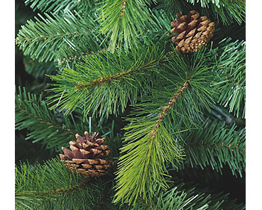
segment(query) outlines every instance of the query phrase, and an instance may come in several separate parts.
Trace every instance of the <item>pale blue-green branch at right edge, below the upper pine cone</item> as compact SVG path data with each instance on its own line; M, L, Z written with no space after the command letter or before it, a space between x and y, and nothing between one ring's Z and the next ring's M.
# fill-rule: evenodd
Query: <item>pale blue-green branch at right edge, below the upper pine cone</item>
M246 118L246 42L220 43L217 59L218 102L236 117Z

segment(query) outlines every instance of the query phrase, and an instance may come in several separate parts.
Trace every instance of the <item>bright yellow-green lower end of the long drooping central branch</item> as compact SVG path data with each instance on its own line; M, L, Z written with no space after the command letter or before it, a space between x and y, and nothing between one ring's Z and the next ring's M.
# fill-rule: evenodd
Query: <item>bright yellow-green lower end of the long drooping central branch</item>
M124 155L119 159L119 170L116 172L118 179L115 202L135 203L138 196L146 199L146 191L153 196L153 182L158 182L161 187L166 188L165 162L170 159L182 159L182 150L173 142L165 127L161 126L158 130L162 135L156 133L152 136L154 128L154 121L133 123L126 128L131 131L126 131L125 137L125 142L129 144L121 148Z

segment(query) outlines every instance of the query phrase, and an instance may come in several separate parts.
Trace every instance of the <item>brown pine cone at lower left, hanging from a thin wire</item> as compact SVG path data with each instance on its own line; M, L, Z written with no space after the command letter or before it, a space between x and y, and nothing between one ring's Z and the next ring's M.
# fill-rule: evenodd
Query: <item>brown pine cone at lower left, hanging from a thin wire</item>
M99 177L107 174L111 167L111 160L104 160L110 153L109 146L102 145L105 138L97 138L98 133L89 136L87 131L84 137L76 134L77 142L70 141L70 149L63 148L65 155L60 154L61 161L72 172L82 175Z

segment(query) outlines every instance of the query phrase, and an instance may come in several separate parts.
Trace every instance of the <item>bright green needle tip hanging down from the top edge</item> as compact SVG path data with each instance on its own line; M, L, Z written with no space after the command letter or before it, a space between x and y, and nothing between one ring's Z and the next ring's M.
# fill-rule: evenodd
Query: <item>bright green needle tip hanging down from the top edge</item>
M146 1L143 0L107 0L97 9L98 21L102 23L99 31L111 36L109 49L114 52L116 47L131 48L136 45L137 36L146 28L146 21L150 21Z

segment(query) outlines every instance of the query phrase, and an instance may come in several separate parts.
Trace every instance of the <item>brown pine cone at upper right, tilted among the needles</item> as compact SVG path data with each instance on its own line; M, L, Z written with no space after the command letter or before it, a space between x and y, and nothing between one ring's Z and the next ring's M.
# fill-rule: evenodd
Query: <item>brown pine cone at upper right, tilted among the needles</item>
M172 38L177 46L176 50L182 53L197 52L202 45L207 45L214 35L214 22L207 16L201 16L197 11L190 11L185 16L177 14L175 22L171 22L171 33L179 33Z

